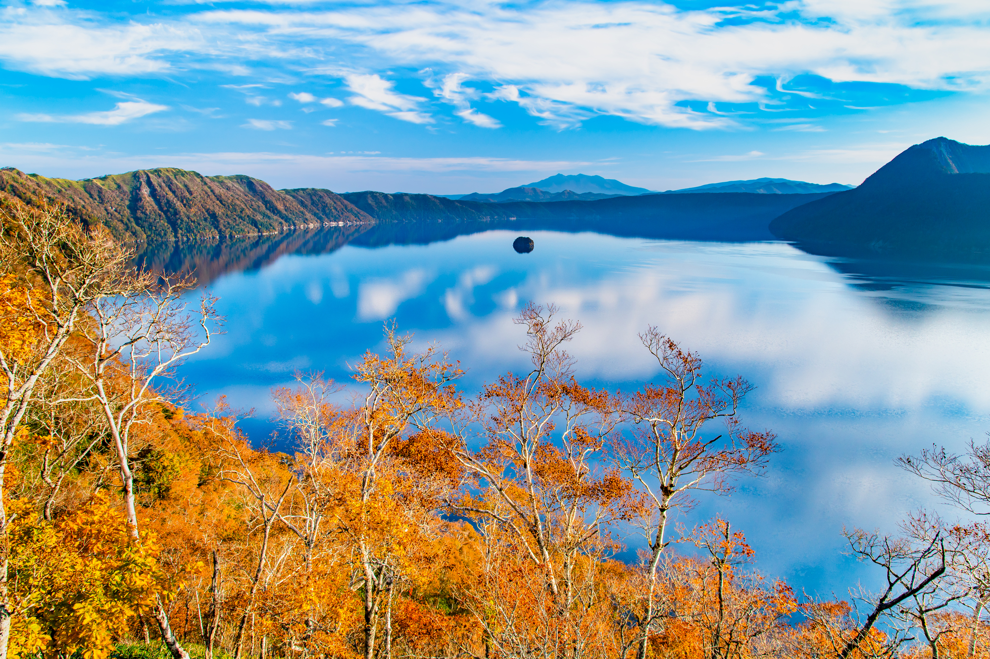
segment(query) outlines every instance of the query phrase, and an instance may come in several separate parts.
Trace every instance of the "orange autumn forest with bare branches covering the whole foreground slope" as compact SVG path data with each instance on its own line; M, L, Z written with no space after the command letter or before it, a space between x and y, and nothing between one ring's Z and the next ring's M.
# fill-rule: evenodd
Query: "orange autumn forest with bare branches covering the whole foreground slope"
M823 600L695 519L779 446L743 377L655 327L656 381L596 389L566 353L580 323L529 303L529 370L471 394L469 365L386 326L352 382L271 392L290 455L224 400L183 407L172 376L225 322L194 280L62 207L0 219L0 659L990 657L984 522L850 529L886 586ZM900 465L988 510L990 445Z

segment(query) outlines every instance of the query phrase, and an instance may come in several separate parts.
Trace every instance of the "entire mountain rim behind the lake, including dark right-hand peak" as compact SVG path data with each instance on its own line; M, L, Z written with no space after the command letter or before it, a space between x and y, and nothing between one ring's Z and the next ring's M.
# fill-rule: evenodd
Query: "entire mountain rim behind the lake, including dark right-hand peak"
M585 189L592 184L642 189L582 174L558 174L537 183L546 181L549 186L576 182ZM833 191L837 186L843 189ZM848 187L760 178L632 195L527 185L453 199L275 190L250 176L203 176L173 167L83 180L0 169L0 205L61 204L80 221L102 223L119 238L138 243L209 243L334 226L340 235L327 240L335 245L344 234L347 241L382 244L513 228L705 240L776 237L810 252L843 256L990 256L990 146L929 140L858 187ZM734 191L739 189L745 191ZM802 192L791 192L795 189ZM315 237L298 240L326 243Z

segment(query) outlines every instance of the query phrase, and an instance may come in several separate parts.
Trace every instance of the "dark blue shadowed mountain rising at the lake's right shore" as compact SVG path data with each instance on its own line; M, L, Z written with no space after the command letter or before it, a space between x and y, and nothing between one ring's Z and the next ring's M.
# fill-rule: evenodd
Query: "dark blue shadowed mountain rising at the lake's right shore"
M990 255L990 146L915 145L861 185L794 208L770 230L841 255Z

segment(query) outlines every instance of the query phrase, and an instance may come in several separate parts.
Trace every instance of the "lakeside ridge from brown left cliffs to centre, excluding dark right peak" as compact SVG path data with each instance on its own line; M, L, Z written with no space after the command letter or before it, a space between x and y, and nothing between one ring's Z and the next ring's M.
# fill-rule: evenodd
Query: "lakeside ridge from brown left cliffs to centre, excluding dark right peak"
M595 184L623 185L600 176L585 178ZM772 218L821 194L634 196L546 192L524 186L491 196L496 197L494 202L375 191L337 194L322 188L275 190L250 176L203 176L174 167L84 180L0 169L0 201L61 204L80 221L102 223L117 237L138 243L217 241L340 224L422 222L482 223L489 228L529 223L534 228L598 229L624 235L659 237L672 231L670 235L677 237L762 240L771 237L766 226ZM519 200L520 196L540 200Z

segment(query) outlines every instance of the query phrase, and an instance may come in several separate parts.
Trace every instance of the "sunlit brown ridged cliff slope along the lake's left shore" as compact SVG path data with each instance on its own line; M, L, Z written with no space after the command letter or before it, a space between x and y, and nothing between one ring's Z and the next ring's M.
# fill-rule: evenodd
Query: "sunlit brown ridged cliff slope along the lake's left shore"
M138 242L216 240L373 221L330 190L291 192L250 176L203 176L173 167L83 180L0 169L0 198L64 204L80 220L102 223L118 238Z

